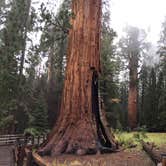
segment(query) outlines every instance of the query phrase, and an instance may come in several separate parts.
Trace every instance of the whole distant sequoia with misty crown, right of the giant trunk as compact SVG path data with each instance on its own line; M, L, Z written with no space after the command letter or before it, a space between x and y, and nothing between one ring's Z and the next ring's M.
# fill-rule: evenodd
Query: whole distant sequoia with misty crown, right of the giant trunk
M129 92L128 92L128 124L131 129L138 123L138 65L140 56L145 48L145 32L137 27L126 28L126 36L121 39L121 51L128 63Z

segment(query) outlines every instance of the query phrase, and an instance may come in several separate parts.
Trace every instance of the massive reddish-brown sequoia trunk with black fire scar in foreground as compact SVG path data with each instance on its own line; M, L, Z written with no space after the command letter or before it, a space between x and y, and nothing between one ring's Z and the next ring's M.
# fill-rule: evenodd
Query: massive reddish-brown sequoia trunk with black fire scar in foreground
M99 110L101 0L73 0L72 10L60 115L41 149L51 155L116 148Z

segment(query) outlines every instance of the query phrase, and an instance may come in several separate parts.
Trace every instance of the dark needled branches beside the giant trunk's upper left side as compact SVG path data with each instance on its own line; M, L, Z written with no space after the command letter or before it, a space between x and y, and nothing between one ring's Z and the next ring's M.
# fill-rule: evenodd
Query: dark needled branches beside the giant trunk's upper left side
M59 12L55 15L50 12L44 4L41 4L40 22L44 22L45 25L42 28L42 36L40 41L40 51L49 51L50 46L53 46L56 50L61 40L67 38L71 25L69 19L72 17L72 13L69 10L70 0L62 3Z

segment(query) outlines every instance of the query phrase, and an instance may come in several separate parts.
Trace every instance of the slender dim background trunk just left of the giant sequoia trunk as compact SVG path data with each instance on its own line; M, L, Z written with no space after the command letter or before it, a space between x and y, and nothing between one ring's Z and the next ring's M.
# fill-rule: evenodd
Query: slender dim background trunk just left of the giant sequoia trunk
M52 35L55 34L52 33ZM60 110L60 98L63 85L63 58L66 50L64 38L60 39L59 45L60 50L55 53L55 46L52 44L48 57L47 104L50 127L55 125ZM55 94L57 94L57 96L55 96Z

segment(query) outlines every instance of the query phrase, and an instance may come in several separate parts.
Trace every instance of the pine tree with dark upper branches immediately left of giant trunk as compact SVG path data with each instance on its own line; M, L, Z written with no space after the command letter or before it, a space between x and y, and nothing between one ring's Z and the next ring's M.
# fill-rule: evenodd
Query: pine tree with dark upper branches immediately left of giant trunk
M44 7L42 9L42 19L46 23L41 36L40 51L48 54L47 104L51 127L55 124L60 109L67 35L70 28L69 18L71 17L69 5L70 1L65 1L56 16Z

